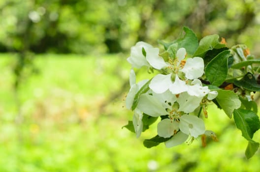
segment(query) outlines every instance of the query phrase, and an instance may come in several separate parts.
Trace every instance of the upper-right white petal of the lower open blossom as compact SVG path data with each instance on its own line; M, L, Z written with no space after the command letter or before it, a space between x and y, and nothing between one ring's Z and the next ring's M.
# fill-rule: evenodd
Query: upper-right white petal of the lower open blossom
M177 102L180 105L178 111L183 111L185 113L193 112L199 106L202 98L203 97L191 96L187 92L181 93L177 98Z

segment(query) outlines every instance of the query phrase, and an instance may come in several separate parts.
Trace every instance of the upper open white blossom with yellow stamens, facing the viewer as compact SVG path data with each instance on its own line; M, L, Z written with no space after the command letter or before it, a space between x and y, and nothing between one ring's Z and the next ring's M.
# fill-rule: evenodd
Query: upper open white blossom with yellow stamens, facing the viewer
M207 87L202 87L201 82L198 84L194 84L193 87L188 87L188 85L186 84L186 81L183 81L179 78L179 76L178 76L179 72L185 73L185 77L187 80L197 79L197 78L201 77L204 73L204 62L201 57L188 58L185 65L183 66L181 61L185 58L185 56L186 56L185 48L180 48L177 51L176 58L174 60L169 60L169 63L165 63L164 66L160 65L160 67L162 67L162 68L163 67L168 68L170 70L170 74L156 75L152 79L149 87L154 92L159 93L159 94L165 92L167 89L169 89L172 92L172 94L180 94L182 92L192 89L191 91L188 92L188 93L191 93L191 95L199 94L199 96L205 96L209 92L209 90L207 89ZM162 57L158 58L158 59L162 60ZM156 63L156 62L160 63L160 61L158 59L153 58L153 63ZM160 64L162 64L162 63L160 63ZM174 82L172 82L173 74L175 75Z

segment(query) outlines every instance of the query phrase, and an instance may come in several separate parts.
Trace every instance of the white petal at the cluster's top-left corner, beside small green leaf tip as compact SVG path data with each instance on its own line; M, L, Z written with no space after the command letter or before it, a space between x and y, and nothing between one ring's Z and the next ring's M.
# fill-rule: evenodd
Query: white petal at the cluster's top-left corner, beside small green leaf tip
M142 53L142 48L146 50L153 48L153 46L145 42L137 42L135 46L131 47L130 57L128 57L127 60L132 67L140 68L142 66L150 66Z

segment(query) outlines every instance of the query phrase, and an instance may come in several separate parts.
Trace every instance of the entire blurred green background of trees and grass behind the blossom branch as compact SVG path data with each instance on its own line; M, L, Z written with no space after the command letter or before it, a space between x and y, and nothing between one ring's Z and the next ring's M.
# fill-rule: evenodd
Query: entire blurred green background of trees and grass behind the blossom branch
M219 142L205 148L147 149L156 124L138 139L122 129L130 47L183 26L260 56L260 0L0 0L0 172L260 171L260 152L246 160L247 141L213 105L205 122Z

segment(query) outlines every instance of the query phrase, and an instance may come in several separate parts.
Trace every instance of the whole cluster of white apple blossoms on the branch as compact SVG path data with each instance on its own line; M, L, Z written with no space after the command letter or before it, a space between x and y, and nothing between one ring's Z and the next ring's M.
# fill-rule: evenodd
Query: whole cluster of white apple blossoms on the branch
M204 75L203 58L187 58L186 54L185 48L179 48L171 56L165 57L160 54L159 48L145 42L137 42L131 47L127 59L132 69L126 107L134 113L132 123L136 137L143 131L142 118L145 114L161 116L157 133L162 138L170 138L165 142L166 147L193 141L201 135L216 138L214 132L205 130L199 114L201 109L205 112L207 103L216 98L218 92L201 83L200 78ZM158 72L151 79L136 83L134 69L142 66ZM148 89L136 96L147 84ZM133 108L134 101L137 101L137 105ZM197 109L200 109L199 114L194 115Z

